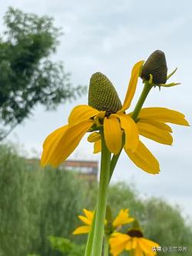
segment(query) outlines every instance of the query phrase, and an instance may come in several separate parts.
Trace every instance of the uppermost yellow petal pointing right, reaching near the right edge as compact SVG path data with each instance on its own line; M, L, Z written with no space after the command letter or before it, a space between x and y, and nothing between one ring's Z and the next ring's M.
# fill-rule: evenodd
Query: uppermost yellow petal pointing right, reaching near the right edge
M153 118L158 121L173 123L176 125L189 125L182 113L169 108L142 108L139 118Z

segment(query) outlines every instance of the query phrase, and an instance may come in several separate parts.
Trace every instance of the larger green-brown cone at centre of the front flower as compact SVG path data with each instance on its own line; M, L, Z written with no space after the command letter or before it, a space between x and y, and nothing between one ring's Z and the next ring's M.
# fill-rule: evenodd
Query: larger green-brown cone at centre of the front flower
M106 75L94 73L90 79L88 105L106 114L116 113L122 108L118 93Z

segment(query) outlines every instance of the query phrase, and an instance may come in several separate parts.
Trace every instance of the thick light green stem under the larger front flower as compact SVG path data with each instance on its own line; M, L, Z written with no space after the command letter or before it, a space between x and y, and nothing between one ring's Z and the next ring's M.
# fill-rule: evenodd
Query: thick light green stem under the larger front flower
M104 135L101 134L101 172L98 190L98 203L95 216L93 256L101 256L104 238L104 219L107 208L108 184L110 175L111 153L105 145Z

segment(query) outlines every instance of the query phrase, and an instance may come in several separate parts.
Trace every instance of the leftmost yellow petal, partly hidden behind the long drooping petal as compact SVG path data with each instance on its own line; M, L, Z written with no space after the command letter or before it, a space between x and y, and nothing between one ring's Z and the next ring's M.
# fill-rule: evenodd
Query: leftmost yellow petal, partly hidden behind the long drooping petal
M41 155L41 166L48 164L48 159L50 158L52 152L55 150L58 141L65 134L68 129L68 125L62 126L57 130L51 132L50 135L45 139L43 144L43 153Z

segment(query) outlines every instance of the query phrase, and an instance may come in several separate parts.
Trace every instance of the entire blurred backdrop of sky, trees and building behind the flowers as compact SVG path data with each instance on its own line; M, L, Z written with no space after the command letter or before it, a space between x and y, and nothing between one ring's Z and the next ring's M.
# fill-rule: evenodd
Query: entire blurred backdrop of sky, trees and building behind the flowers
M191 5L172 0L2 2L1 256L60 255L48 236L84 244L84 236L72 238L71 232L79 224L81 209L94 208L100 155L92 154L85 136L60 169L41 170L38 159L45 137L67 123L75 105L88 103L89 79L95 71L110 78L124 101L134 63L161 49L168 71L178 68L171 81L181 85L154 88L144 106L181 111L191 123ZM131 110L142 86L139 81ZM148 238L190 248L191 128L172 127L171 147L142 139L160 161L161 173L144 173L122 153L109 201L114 213L130 208Z

